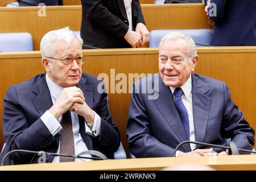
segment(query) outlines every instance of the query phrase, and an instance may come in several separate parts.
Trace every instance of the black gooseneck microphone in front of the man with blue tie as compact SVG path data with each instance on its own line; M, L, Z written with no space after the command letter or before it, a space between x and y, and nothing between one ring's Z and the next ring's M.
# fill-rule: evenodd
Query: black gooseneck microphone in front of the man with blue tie
M232 141L230 141L228 143L228 146L220 146L220 145L217 145L217 144L210 144L210 143L203 143L203 142L195 142L195 141L184 141L184 142L181 142L180 144L177 145L177 147L175 148L175 151L174 151L174 157L176 157L176 152L177 150L183 146L183 144L185 143L194 143L194 144L200 144L200 145L203 145L203 146L209 146L209 147L217 147L217 148L225 148L225 149L228 149L229 150L229 155L239 155L240 152L249 152L249 153L254 153L256 154L255 151L250 151L250 150L245 150L245 149L242 149L242 148L237 148L236 144Z

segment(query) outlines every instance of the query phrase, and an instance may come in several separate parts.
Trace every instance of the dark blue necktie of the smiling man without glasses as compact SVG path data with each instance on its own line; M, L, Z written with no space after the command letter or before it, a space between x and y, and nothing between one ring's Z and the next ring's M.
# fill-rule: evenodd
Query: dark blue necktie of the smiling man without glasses
M189 140L189 121L188 121L188 111L186 107L184 106L183 102L181 101L181 96L183 94L183 91L181 88L176 88L174 91L174 104L176 106L177 111L180 114L181 121L183 123L183 126L186 131L187 138Z

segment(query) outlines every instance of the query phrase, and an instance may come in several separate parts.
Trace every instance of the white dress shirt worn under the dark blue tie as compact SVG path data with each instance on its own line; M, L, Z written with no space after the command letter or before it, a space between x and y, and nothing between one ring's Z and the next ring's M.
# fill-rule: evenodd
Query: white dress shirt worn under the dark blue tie
M193 104L192 104L192 80L191 75L189 76L188 80L185 82L184 85L180 87L183 90L183 94L181 96L181 101L183 102L184 106L188 111L188 121L189 121L189 140L195 141L195 128L194 128L194 121L193 121ZM170 86L172 94L174 94L175 88ZM175 99L175 96L174 96ZM190 144L191 150L196 148L196 144ZM176 156L180 154L180 151L176 152Z

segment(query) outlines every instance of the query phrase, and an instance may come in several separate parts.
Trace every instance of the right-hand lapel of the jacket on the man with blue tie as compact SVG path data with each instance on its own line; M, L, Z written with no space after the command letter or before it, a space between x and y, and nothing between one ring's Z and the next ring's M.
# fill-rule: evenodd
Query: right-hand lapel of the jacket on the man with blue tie
M192 74L193 121L197 142L204 142L212 102L212 99L206 95L208 91L208 86Z

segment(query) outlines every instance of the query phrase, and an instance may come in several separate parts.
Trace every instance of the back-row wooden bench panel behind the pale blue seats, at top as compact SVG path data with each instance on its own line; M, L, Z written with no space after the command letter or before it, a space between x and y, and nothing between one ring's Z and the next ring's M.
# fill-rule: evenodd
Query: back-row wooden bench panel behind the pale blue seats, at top
M149 31L209 28L203 3L152 4L141 7ZM42 37L51 30L69 26L74 31L80 31L81 6L47 6L46 16L38 16L39 10L39 7L0 7L0 33L30 32L34 50L39 50Z

